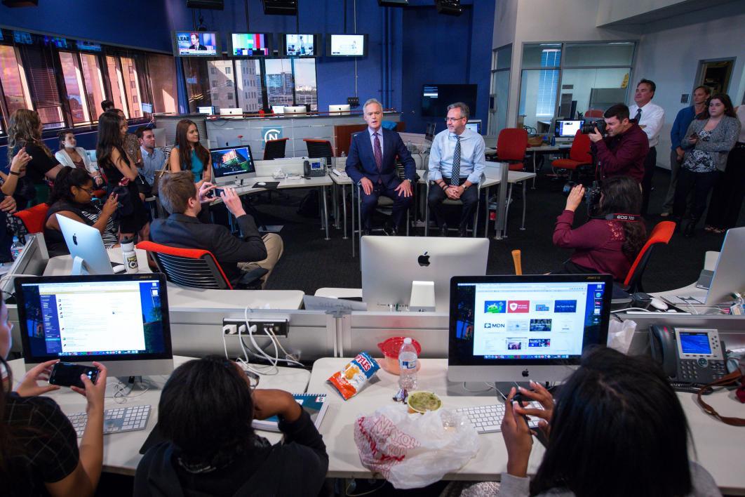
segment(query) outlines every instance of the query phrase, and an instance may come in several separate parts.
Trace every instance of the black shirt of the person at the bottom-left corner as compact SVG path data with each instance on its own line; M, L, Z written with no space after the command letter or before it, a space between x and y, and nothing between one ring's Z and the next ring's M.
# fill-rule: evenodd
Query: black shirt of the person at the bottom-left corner
M77 434L57 402L48 397L6 396L5 419L14 431L8 474L0 479L1 496L47 495L54 483L77 467Z

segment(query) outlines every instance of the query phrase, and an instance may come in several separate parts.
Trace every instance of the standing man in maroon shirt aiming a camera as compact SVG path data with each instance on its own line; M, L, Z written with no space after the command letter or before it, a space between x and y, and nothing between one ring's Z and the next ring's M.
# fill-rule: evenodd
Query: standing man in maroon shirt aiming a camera
M615 104L603 114L606 136L597 128L589 134L592 150L597 154L600 177L630 176L641 183L644 178L644 158L650 150L647 134L635 120L629 119L629 107Z

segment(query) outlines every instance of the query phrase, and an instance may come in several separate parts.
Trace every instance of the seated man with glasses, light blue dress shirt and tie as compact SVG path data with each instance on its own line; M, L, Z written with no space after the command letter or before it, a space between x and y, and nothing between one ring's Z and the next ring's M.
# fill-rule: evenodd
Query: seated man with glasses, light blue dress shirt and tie
M469 108L463 102L448 105L447 130L434 137L429 156L429 209L434 214L440 235L447 236L448 225L443 215L443 200L461 200L458 232L466 236L469 221L478 206L478 182L486 168L484 138L466 129Z

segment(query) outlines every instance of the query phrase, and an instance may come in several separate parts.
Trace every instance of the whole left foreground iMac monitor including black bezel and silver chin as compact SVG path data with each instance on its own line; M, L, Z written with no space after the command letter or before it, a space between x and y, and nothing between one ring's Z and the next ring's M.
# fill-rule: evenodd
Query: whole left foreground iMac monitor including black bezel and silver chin
M26 369L61 359L103 363L110 376L173 370L165 276L38 276L16 279Z

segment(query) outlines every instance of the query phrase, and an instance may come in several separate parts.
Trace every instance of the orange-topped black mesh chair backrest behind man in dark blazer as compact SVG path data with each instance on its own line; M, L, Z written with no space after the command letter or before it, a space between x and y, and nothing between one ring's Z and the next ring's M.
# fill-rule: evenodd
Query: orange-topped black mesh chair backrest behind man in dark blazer
M153 241L141 241L137 248L153 255L169 282L191 288L232 290L223 268L209 250L168 247Z

